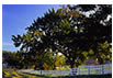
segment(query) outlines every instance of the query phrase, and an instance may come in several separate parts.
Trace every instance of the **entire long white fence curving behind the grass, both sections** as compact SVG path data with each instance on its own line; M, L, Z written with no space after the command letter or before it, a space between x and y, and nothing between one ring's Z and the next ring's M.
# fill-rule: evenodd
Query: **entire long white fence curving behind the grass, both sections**
M105 65L94 65L94 66L80 66L74 69L64 70L19 70L23 73L37 74L37 75L57 75L57 76L68 76L75 73L76 75L104 75L112 74L112 64Z

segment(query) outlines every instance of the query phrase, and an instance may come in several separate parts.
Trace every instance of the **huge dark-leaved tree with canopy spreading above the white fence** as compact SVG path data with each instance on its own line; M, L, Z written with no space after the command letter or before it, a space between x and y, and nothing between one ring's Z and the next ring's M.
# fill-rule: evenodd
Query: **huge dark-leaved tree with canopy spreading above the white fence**
M110 12L105 12L105 9ZM83 14L90 10L94 13L89 13L90 16ZM97 54L99 44L111 43L111 18L106 20L109 14L111 5L67 5L57 11L48 10L26 27L26 34L13 35L12 40L15 46L22 45L21 49L26 53L60 52L71 68L78 67L88 59L90 49Z

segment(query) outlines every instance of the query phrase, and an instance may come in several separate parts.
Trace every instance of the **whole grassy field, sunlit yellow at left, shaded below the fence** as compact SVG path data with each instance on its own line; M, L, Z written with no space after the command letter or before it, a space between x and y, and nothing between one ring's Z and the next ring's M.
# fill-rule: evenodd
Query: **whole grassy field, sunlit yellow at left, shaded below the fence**
M41 76L35 74L19 73L16 69L3 69L3 78L112 78L112 75L90 75L90 76Z

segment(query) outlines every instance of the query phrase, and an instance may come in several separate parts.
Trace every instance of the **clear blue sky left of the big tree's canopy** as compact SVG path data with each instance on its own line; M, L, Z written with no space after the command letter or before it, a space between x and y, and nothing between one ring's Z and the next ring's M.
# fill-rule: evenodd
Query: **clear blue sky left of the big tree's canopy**
M48 9L59 9L58 4L3 4L2 5L2 49L16 52L11 35L22 35L33 20L43 16Z

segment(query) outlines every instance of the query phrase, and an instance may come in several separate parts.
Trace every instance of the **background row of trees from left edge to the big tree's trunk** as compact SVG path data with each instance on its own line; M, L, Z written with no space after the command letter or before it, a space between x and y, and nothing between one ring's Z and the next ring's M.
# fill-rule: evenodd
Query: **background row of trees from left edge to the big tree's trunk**
M32 68L32 69L56 69L66 65L64 55L48 53L24 53L24 52L8 52L2 53L3 64L12 68Z

